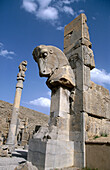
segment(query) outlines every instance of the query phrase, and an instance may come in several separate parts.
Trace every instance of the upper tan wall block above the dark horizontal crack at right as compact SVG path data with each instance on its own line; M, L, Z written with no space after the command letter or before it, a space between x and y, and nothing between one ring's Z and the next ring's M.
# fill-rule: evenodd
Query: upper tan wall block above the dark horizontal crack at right
M110 94L104 87L91 82L91 88L84 92L83 105L85 112L110 119Z

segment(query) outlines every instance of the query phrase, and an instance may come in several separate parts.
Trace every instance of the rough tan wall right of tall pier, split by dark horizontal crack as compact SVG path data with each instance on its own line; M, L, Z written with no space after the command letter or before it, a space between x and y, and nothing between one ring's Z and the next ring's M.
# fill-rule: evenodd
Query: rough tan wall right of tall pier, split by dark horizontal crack
M110 94L103 86L91 82L84 92L86 140L96 135L110 135Z

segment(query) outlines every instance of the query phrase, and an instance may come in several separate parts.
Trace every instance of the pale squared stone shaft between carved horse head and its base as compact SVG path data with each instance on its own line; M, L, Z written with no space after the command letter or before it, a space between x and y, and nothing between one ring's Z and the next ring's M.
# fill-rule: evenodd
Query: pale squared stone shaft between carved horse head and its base
M49 126L58 128L57 139L69 141L70 91L64 87L52 89Z

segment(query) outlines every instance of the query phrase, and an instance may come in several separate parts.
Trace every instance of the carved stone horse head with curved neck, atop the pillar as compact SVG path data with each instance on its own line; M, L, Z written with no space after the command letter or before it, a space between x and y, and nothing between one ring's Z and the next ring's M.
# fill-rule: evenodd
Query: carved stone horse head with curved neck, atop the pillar
M60 49L40 45L34 49L33 57L38 63L39 75L48 77L46 84L50 89L55 86L68 88L75 86L74 73L67 57Z

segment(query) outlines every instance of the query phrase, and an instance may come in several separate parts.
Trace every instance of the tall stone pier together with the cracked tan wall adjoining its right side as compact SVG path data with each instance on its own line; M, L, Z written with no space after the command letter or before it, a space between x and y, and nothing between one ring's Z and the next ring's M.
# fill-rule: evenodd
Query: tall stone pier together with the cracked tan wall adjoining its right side
M85 166L85 141L110 134L110 94L90 80L95 62L86 22L86 16L81 14L64 30L64 53L75 74L70 106L70 140L74 141L75 166Z

